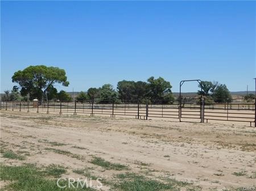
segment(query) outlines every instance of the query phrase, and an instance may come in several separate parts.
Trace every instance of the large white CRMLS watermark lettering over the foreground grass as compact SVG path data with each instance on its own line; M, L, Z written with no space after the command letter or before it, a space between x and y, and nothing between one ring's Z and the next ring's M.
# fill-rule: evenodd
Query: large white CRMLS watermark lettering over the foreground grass
M64 180L64 181L61 181L61 180ZM57 180L57 186L59 188L97 188L97 189L100 189L102 188L102 183L101 183L101 178L98 178L96 180L96 182L94 182L95 184L93 185L93 182L92 182L92 179L83 179L83 180L80 180L79 178L78 179L73 179L73 178L68 178L68 181L67 179L63 179L63 178L60 178Z

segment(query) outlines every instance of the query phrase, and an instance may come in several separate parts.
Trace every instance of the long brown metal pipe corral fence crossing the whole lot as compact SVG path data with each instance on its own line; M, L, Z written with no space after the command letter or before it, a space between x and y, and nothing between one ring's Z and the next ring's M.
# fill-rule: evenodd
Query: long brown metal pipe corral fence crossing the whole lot
M165 118L172 121L236 121L255 125L255 101L233 99L222 103L206 103L204 99L182 98L166 103L164 100L126 100L121 103L111 101L96 102L48 102L34 104L24 101L0 101L1 110L103 115L109 117L126 116L142 120Z

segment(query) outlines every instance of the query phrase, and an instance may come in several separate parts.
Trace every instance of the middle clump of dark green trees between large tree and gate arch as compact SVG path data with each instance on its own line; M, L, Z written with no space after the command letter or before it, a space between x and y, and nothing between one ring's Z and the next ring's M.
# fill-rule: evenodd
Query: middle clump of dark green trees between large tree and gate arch
M100 88L89 88L77 95L77 101L94 100L98 103L118 103L127 100L135 103L138 99L149 99L152 103L172 103L175 99L171 92L171 84L163 78L150 77L147 82L122 80L117 84L117 91L111 84Z

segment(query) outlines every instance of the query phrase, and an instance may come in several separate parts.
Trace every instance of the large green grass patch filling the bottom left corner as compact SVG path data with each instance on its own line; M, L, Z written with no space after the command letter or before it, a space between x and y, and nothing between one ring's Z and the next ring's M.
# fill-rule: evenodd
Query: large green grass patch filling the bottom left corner
M11 183L3 188L3 190L15 191L94 191L93 188L59 188L56 184L57 179L50 180L45 177L45 173L36 168L35 165L26 164L22 166L2 165L0 168L1 180L8 180ZM63 180L61 186L68 185ZM76 184L75 184L76 185Z

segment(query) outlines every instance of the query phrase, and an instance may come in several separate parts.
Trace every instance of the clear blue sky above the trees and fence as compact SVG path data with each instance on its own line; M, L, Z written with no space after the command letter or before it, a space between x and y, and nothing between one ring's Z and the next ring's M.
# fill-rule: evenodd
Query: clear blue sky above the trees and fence
M254 90L255 2L1 1L1 92L30 65L86 91L119 80L215 80ZM196 91L186 83L184 91Z

